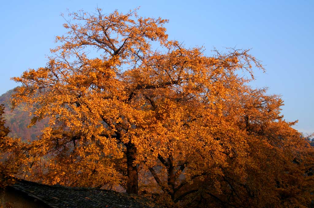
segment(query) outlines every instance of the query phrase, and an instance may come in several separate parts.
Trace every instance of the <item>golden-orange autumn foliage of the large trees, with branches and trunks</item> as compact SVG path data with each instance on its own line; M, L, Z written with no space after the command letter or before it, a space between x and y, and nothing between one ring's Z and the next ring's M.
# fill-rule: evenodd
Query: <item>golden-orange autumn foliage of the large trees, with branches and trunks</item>
M313 148L279 96L248 86L264 70L248 50L187 49L136 10L70 17L46 67L13 78L13 105L48 123L30 143L2 138L11 175L120 185L168 207L310 206Z

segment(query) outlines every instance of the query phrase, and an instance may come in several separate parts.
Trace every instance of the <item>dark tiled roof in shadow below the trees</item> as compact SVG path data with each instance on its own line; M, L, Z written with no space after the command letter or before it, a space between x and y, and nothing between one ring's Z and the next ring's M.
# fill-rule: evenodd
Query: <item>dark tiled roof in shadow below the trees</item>
M96 188L77 188L61 185L44 185L19 179L10 186L28 197L53 208L161 208L150 200L126 193Z

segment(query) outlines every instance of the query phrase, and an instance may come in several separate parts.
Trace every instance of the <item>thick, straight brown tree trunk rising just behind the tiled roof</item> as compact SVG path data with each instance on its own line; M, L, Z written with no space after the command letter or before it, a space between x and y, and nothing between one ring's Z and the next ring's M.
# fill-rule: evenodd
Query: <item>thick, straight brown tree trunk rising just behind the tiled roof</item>
M138 169L134 164L136 159L136 147L129 142L127 145L127 193L138 194Z

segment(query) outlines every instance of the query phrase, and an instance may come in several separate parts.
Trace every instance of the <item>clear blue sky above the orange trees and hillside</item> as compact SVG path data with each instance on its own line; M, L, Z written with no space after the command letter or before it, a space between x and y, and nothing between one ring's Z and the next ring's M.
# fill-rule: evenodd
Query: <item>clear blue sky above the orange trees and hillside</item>
M170 2L170 3L169 3ZM17 86L10 77L45 66L54 37L62 35L60 13L84 9L104 13L126 12L140 6L146 17L169 19L170 39L187 47L252 48L251 54L266 65L255 73L254 87L269 87L280 94L287 121L303 133L314 132L313 51L314 1L3 1L0 33L0 94Z

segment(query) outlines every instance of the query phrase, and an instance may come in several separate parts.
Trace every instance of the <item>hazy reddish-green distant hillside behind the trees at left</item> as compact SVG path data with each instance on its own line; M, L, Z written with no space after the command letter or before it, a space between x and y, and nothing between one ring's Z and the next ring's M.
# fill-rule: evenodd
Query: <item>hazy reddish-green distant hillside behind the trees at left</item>
M27 112L23 111L23 107L17 107L11 112L10 97L14 93L14 89L7 91L0 96L0 104L5 106L5 126L10 128L10 137L21 137L24 141L34 140L36 136L41 134L41 129L44 126L43 122L39 122L31 128L27 128L30 124L30 117Z

